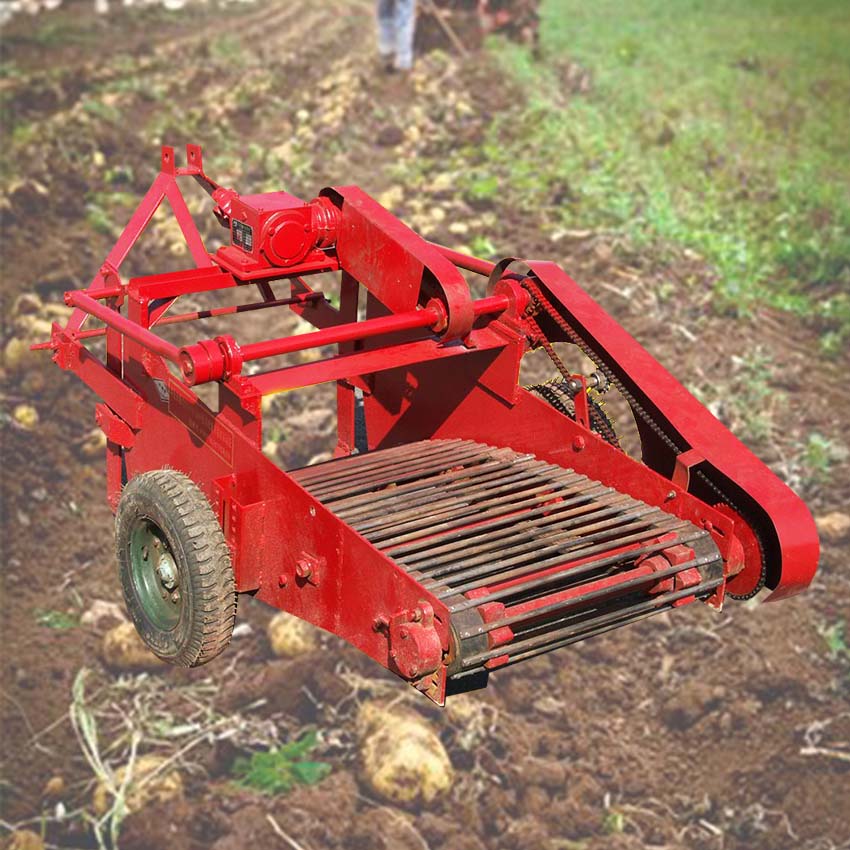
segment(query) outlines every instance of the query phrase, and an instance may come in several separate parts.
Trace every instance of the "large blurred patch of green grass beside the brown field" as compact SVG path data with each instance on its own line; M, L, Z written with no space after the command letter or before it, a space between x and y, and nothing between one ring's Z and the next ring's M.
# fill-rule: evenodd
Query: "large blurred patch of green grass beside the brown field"
M542 59L500 43L533 91L494 122L493 175L565 226L678 246L717 271L719 309L769 305L850 340L850 15L846 0L544 0ZM570 63L591 75L565 91ZM541 167L545 163L545 168Z

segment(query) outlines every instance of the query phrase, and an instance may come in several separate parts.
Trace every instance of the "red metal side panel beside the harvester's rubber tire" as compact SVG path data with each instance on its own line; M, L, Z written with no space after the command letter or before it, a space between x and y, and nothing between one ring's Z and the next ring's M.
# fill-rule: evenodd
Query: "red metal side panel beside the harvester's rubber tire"
M131 374L120 382L118 406L138 413L132 445L120 453L123 477L167 467L192 478L219 515L238 590L339 635L390 669L387 635L376 620L389 622L426 603L448 652L443 603L264 457L224 414L212 413L161 360L130 341L124 352ZM70 368L90 361L74 358ZM89 373L100 377L98 391L114 404L111 373Z

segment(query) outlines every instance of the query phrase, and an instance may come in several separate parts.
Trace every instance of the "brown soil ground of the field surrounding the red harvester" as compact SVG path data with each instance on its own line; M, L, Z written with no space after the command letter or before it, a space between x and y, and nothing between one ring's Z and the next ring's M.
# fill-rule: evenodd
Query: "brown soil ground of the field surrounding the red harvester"
M72 3L50 13L49 27L44 16L7 29L4 344L32 328L13 318L18 296L61 304L64 290L88 283L113 241L110 223L126 220L127 196L140 196L155 173L159 142L197 141L210 173L242 191L285 187L309 198L357 183L429 238L462 246L486 236L500 254L561 263L726 421L769 416L755 447L816 515L846 510L846 464L814 475L789 460L811 432L848 437L847 362L814 362L812 331L783 314L718 316L711 270L698 259L636 255L578 229L554 233L546 209L512 215L507 188L504 203L472 204L434 168L441 152L474 149L492 115L521 101L486 53L431 50L411 78L385 77L372 59L370 4L236 8L95 17ZM208 207L199 199L195 210ZM216 228L205 225L211 238ZM161 222L132 268L182 263ZM279 321L252 314L238 328L258 337ZM740 366L754 353L764 364L755 376ZM527 371L542 370L538 362ZM222 715L251 718L245 728L270 723L285 738L317 727L333 767L314 787L263 797L234 788L234 747L202 736L181 760L185 800L131 815L125 850L850 847L846 646L830 651L824 637L850 610L846 540L825 541L804 596L721 614L694 607L614 632L495 676L463 702L465 713L423 705L336 639L295 660L272 658L270 612L250 601L239 615L250 630L213 666L121 676L101 660L106 626L79 621L95 600L120 601L102 458L86 452L94 397L46 354L7 362L3 377L7 830L28 824L53 846L96 846L74 814L90 808L93 776L67 720L72 684L88 668L102 736L117 735L151 694L180 712L203 693ZM756 381L767 391L753 410ZM332 448L332 402L329 388L274 402L282 465ZM38 411L34 429L9 416L18 404ZM97 701L102 693L108 703ZM438 731L456 771L448 795L404 809L364 787L352 717L369 696L406 700ZM105 756L117 759L106 737ZM46 790L56 777L64 790ZM57 803L73 816L57 814Z

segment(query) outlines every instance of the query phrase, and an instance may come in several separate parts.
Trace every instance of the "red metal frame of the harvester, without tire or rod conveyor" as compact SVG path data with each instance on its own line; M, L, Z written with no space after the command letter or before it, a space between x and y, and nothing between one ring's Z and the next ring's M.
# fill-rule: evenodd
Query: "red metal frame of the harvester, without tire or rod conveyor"
M326 189L309 204L285 193L240 197L204 173L198 146L187 147L187 158L178 168L173 149L163 148L161 171L117 244L86 290L66 294L74 313L42 346L104 400L96 416L107 437L113 509L123 484L141 472L187 473L218 514L238 591L341 635L397 671L392 628L376 623L418 624L418 651L443 661L408 678L438 702L451 652L445 604L263 455L264 395L336 382L337 456L354 451L359 389L370 450L471 439L533 453L659 506L711 532L725 562L714 605L727 589L756 589L765 564L770 599L808 586L818 542L805 505L558 266L493 264L431 244L355 187ZM235 248L207 252L178 185L184 176L212 195ZM122 263L164 199L196 268L124 282ZM472 298L461 269L489 279L486 297ZM326 271L341 273L338 308L309 282ZM280 280L289 283L284 296L272 288ZM255 286L261 300L170 313L180 296L238 286ZM536 321L528 315L532 291L552 307ZM317 330L245 345L219 336L182 349L153 331L287 305ZM105 328L84 329L89 317ZM520 386L520 361L541 329L550 341L586 340L642 408L642 463L590 430L583 392L573 421ZM104 361L86 347L102 335ZM244 370L249 361L327 345L338 353ZM218 412L192 390L210 381L218 383Z

